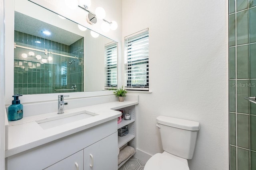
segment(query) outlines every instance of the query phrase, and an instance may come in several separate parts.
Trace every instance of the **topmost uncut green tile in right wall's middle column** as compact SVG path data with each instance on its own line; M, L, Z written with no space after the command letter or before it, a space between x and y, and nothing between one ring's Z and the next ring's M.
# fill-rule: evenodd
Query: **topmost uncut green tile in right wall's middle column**
M248 10L236 14L237 45L248 44Z

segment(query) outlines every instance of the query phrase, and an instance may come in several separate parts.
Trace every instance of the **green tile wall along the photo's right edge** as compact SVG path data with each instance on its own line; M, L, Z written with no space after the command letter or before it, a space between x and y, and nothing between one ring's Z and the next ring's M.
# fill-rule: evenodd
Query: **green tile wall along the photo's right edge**
M256 1L229 0L230 170L256 170Z

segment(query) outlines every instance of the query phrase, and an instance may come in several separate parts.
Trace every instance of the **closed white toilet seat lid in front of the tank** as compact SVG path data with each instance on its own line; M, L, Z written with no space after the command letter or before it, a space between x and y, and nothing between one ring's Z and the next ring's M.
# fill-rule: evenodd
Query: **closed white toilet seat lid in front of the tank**
M172 156L157 153L148 160L144 170L189 170L189 167Z

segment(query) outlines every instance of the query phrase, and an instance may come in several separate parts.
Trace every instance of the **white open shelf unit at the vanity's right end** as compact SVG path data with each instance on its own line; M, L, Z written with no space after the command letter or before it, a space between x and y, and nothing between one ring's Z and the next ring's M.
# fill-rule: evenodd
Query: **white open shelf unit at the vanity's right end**
M124 146L126 143L128 143L128 145L130 147L133 147L135 149L135 152L132 154L132 155L134 155L136 153L136 122L135 122L135 120L136 120L136 105L118 109L118 111L120 111L120 110L123 110L124 112L127 112L130 110L131 120L124 120L124 118L123 118L122 121L117 125L118 129L128 125L128 131L129 131L128 134L123 137L118 136L118 148L120 148L120 147ZM118 165L118 168L120 168L127 160L129 160L130 157L132 157L132 155L130 155L126 160L122 161Z

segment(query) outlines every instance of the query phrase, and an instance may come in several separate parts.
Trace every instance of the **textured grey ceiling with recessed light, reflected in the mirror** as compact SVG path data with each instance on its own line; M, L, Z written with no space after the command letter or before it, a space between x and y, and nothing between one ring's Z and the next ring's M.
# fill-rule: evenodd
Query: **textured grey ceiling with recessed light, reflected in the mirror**
M58 43L70 45L81 39L82 36L71 33L54 25L37 20L15 11L14 29L30 35L35 35ZM42 31L50 31L51 35L46 36Z

